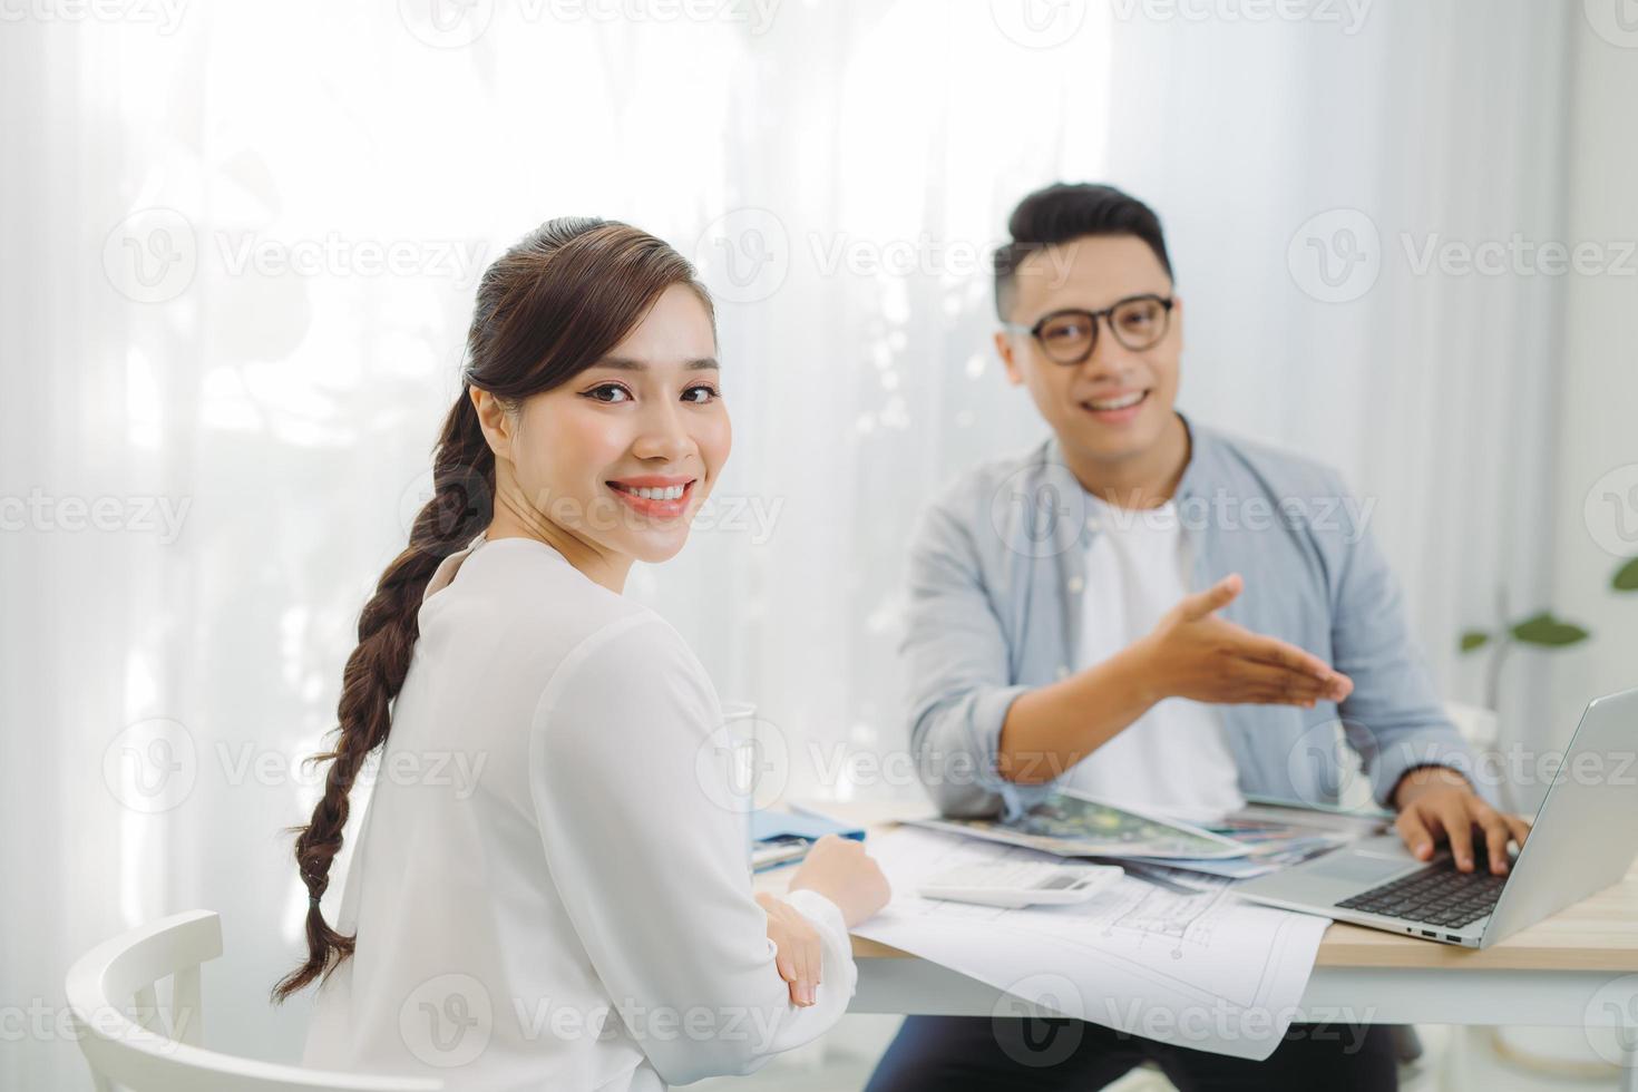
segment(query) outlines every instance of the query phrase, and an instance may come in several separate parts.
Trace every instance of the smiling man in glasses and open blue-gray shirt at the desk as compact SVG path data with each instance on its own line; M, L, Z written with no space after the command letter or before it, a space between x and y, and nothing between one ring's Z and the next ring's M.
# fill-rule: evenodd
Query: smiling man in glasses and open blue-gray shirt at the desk
M1181 817L1328 802L1340 719L1417 856L1448 842L1463 871L1505 871L1527 827L1463 776L1342 480L1176 413L1184 308L1155 213L1053 185L1009 229L996 350L1052 439L945 490L911 550L911 740L940 810L1057 787ZM1047 1025L1070 1048L1020 1053L1006 1023L911 1017L870 1089L1094 1089L1143 1061L1181 1089L1394 1087L1386 1028L1296 1025L1248 1063L1068 1022Z

